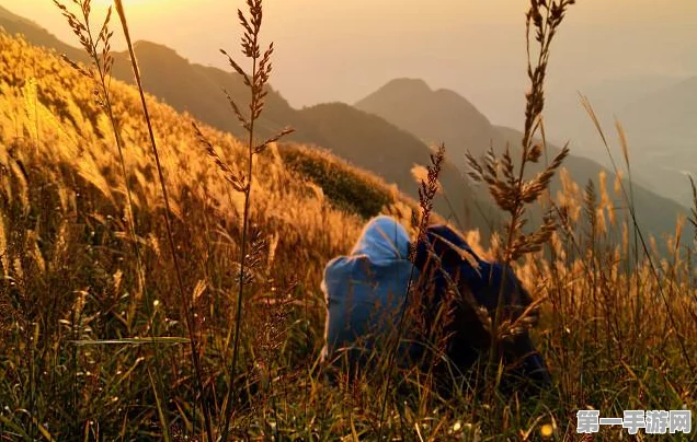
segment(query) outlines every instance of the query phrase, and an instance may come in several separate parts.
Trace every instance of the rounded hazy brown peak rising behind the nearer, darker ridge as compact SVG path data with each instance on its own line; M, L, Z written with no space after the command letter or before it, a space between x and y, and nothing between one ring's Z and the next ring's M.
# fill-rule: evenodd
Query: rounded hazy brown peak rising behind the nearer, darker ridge
M424 105L421 105L424 103ZM489 120L464 97L453 91L432 91L421 80L395 80L366 98L356 103L356 107L379 115L403 130L414 133L430 142L437 137L449 146L448 156L462 172L468 170L465 152L469 150L475 156L485 153L490 146L494 151L503 151L510 147L514 163L521 158L521 140L523 133L504 127L492 126ZM547 158L551 159L560 149L547 144ZM573 151L572 151L573 153ZM619 159L618 159L619 160ZM527 176L540 172L545 162L532 164ZM593 181L598 186L599 175L613 186L616 174L592 160L570 155L563 167L573 182L585 185ZM627 193L629 185L625 181ZM685 184L687 188L687 183ZM551 182L552 194L562 189L559 177ZM481 191L481 190L480 190ZM667 198L661 197L640 185L633 186L637 218L640 226L658 237L670 233L675 226L675 218L686 214L687 209ZM481 195L481 194L480 194ZM621 191L609 193L616 217L627 217L626 205Z

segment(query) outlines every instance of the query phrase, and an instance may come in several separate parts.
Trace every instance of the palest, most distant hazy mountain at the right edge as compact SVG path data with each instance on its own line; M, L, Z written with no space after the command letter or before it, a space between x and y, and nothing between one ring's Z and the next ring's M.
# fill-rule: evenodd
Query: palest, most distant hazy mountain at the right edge
M569 140L574 152L627 168L616 121L621 124L632 179L659 195L692 205L688 175L697 177L697 77L629 75L579 91L587 96L610 153L594 123L573 96L550 95L550 139Z

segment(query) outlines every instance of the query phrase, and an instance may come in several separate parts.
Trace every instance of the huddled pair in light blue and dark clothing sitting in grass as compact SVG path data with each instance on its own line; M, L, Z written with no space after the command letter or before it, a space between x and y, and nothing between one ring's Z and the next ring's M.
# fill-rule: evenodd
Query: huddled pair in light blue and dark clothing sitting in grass
M532 296L510 267L479 258L447 225L431 225L424 236L412 263L407 230L380 216L366 224L350 255L328 263L322 281L325 367L355 379L376 367L386 354L382 346L395 342L390 337L400 336L395 354L399 367L419 367L455 380L492 348L489 330L496 312L511 323L522 317L536 322L536 315L526 312ZM434 346L443 351L430 351ZM546 363L525 327L499 348L507 379L535 387L550 385ZM513 385L521 384L505 382L504 388L511 392Z

